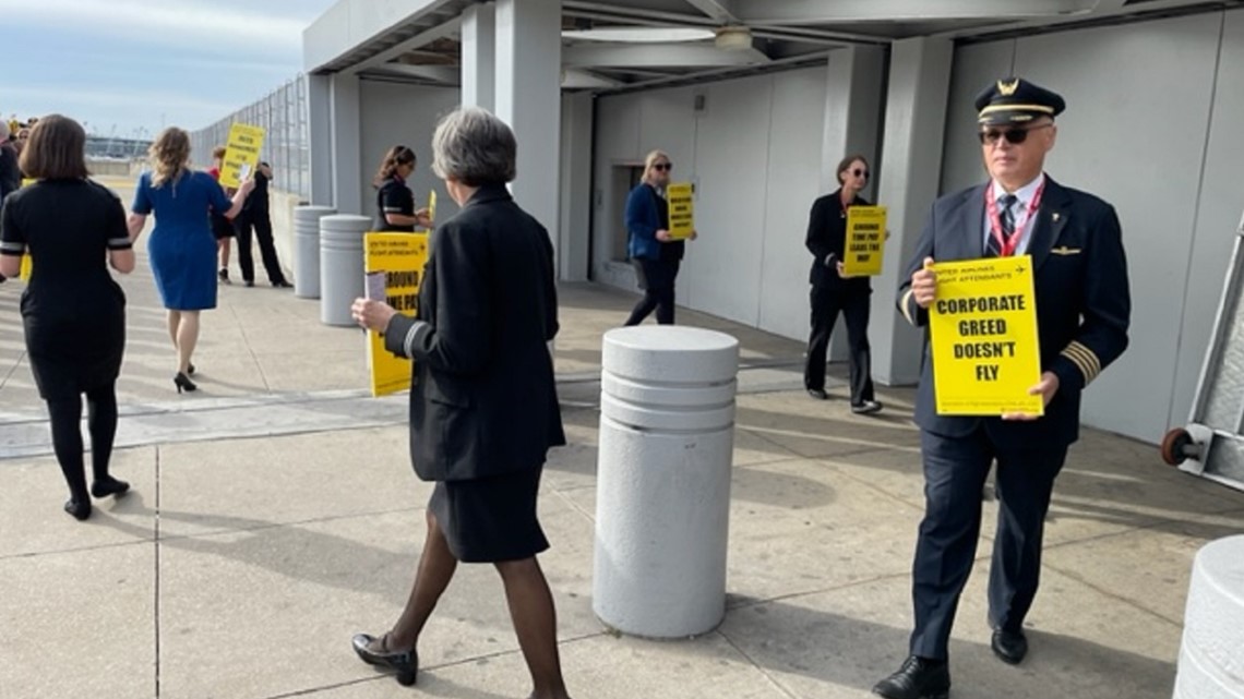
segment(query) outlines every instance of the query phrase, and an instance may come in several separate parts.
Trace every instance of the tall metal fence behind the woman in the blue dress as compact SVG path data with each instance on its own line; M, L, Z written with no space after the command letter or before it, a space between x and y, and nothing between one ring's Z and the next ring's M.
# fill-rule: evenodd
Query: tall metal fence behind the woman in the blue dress
M274 189L311 198L306 76L300 75L254 104L193 132L190 158L194 167L211 165L211 149L225 144L234 123L262 127L266 132L260 159L272 165Z

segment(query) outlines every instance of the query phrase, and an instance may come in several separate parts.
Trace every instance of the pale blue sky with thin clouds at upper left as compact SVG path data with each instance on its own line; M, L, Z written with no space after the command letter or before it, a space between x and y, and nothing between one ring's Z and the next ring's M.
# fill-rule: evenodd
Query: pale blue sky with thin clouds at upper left
M0 0L0 114L102 136L203 128L302 70L336 0Z

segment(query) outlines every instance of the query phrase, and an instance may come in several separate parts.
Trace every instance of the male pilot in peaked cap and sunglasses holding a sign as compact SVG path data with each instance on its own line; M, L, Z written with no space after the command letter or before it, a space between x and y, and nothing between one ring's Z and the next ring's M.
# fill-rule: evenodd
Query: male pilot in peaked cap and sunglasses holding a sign
M942 197L899 287L898 307L928 326L934 260L1030 255L1041 376L1029 389L1045 417L937 414L926 330L916 398L924 460L924 520L912 570L916 628L902 668L873 688L888 699L947 697L947 646L980 531L980 491L990 465L999 502L989 575L990 647L1001 660L1028 653L1024 618L1036 596L1041 537L1054 480L1080 425L1080 394L1127 347L1131 295L1115 209L1044 173L1062 97L1020 78L977 98L990 182Z

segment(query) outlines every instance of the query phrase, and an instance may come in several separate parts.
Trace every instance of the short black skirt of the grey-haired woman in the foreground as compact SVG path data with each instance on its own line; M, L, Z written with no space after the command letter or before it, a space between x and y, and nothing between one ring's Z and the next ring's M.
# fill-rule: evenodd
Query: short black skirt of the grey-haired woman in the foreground
M536 519L544 468L473 480L438 481L428 510L464 563L530 558L549 549Z

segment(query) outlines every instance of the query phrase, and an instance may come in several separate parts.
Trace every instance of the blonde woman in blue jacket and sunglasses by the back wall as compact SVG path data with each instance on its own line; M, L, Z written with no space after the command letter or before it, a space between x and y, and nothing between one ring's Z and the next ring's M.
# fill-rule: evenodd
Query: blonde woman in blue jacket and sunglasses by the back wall
M669 236L669 201L666 187L674 165L663 150L653 150L643 159L643 180L626 199L627 254L634 265L636 279L643 297L631 310L628 326L639 325L657 311L659 325L674 323L674 280L687 244ZM692 240L695 240L692 231Z

